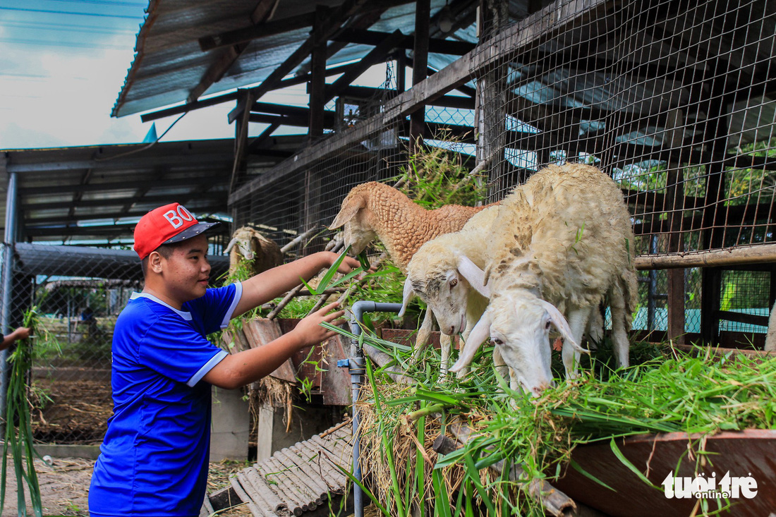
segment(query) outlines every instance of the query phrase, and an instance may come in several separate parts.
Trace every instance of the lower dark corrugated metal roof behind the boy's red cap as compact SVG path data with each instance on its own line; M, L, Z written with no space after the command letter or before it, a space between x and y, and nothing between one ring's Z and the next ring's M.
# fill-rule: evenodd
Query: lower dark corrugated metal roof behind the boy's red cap
M276 148L299 137L274 137ZM274 165L283 158L274 152ZM234 141L165 142L0 151L0 174L18 178L18 241L131 241L137 219L179 202L226 219ZM5 185L0 210L5 213ZM5 223L3 223L3 226ZM3 229L4 231L4 229ZM229 231L224 225L221 233Z

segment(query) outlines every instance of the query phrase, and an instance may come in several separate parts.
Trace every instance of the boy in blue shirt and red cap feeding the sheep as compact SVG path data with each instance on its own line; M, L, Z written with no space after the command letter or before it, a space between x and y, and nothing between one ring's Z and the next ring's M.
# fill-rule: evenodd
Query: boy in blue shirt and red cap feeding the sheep
M334 333L320 326L342 311L330 304L258 349L228 355L206 335L310 279L336 261L320 252L219 289L207 289L204 231L178 203L140 219L134 249L145 277L113 333L113 417L89 489L94 517L196 517L206 493L210 454L210 388L231 390L274 371L299 349ZM346 257L340 272L359 262Z

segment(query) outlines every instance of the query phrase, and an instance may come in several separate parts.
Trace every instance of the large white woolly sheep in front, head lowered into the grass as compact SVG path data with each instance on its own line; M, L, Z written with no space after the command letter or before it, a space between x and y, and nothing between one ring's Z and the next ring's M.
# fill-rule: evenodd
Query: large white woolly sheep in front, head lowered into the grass
M490 303L451 370L465 368L490 336L511 368L512 387L538 395L552 382L554 325L564 338L566 378L574 378L587 352L579 343L588 319L605 296L615 356L627 366L636 271L630 217L615 182L589 165L550 165L498 210L485 272L474 263L461 269Z

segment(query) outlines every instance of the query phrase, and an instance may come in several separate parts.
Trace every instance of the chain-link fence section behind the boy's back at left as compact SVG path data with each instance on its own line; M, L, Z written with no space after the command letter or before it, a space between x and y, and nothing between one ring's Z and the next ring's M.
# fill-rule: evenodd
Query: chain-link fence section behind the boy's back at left
M66 246L17 247L5 332L19 327L26 311L35 307L29 377L33 438L99 444L113 414L113 328L130 294L142 288L140 280L123 256L111 259L105 250L95 250L95 255L105 255L101 261L79 261ZM140 266L133 266L139 272ZM77 276L72 268L78 268Z

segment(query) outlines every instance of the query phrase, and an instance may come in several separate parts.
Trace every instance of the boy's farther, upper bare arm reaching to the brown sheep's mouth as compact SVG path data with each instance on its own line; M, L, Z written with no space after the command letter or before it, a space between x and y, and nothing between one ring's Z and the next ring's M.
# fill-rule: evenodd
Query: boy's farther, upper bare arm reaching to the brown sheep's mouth
M339 255L334 252L318 252L297 259L288 264L279 265L268 269L242 283L243 293L232 317L240 316L254 307L267 303L269 300L279 297L283 293L298 286L300 278L305 282L313 278L321 269L331 267L337 262ZM352 257L345 257L338 271L351 272L359 267L359 261ZM273 369L274 370L274 369ZM269 370L272 371L272 370Z

